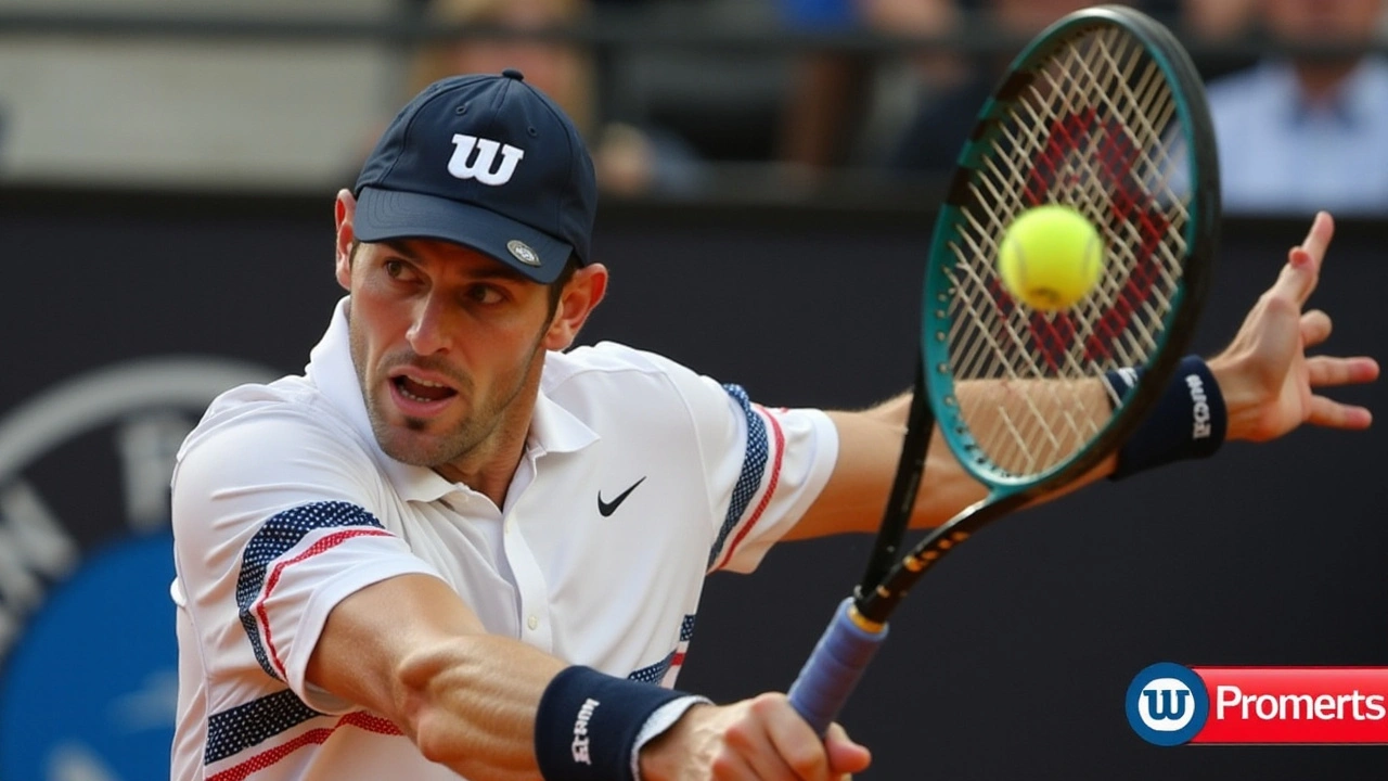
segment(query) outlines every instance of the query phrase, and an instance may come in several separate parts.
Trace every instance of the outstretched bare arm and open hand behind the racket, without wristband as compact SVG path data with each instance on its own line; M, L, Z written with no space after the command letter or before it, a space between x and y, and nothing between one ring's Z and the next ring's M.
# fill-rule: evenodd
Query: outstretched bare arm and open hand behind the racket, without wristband
M1209 360L1228 410L1226 439L1266 442L1306 424L1353 431L1373 422L1369 410L1342 404L1321 392L1377 379L1378 363L1364 356L1306 356L1307 349L1324 342L1331 332L1330 315L1305 310L1305 304L1316 289L1332 235L1330 215L1319 214L1306 239L1288 252L1277 281L1248 313L1234 340ZM1092 382L1090 390L1081 388L1076 393L1077 406L1070 407L1072 414L1083 418L1083 410L1088 410L1094 420L1102 420L1109 414L1109 402L1098 379L1088 382ZM997 382L979 382L958 392L966 406L1053 403L1053 395L1041 382L1010 389ZM902 395L866 411L830 413L840 435L838 463L819 499L787 539L877 528L895 475L909 404L909 395ZM1110 457L1041 500L1108 475L1113 467ZM984 495L984 488L955 460L937 429L912 525L938 525Z

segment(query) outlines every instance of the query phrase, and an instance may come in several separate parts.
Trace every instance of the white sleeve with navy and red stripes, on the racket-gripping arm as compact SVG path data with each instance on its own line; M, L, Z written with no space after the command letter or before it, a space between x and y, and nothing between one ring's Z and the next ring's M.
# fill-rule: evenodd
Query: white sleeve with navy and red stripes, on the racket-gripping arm
M307 682L328 614L376 582L439 573L380 514L372 464L297 411L247 414L180 454L174 557L210 712L289 688L332 714L350 703ZM251 687L251 684L254 684ZM247 688L250 687L250 688Z

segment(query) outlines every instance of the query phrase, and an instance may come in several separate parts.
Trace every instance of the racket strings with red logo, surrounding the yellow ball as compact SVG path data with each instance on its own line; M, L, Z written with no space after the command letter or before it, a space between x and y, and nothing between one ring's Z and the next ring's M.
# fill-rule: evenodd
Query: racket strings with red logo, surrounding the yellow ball
M1072 459L1109 420L1092 378L1156 353L1187 254L1177 121L1160 65L1113 28L1062 46L997 117L951 242L952 290L936 302L951 317L940 338L956 381L952 425L980 460L1031 475ZM1042 203L1083 213L1106 252L1095 289L1053 314L1015 300L997 274L1006 227Z

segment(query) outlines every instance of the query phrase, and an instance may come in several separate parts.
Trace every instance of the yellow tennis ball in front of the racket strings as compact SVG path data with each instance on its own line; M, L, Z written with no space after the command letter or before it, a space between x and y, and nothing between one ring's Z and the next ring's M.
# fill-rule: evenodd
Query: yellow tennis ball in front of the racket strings
M998 274L1008 292L1033 309L1069 309L1103 274L1103 239L1069 206L1029 208L1002 236Z

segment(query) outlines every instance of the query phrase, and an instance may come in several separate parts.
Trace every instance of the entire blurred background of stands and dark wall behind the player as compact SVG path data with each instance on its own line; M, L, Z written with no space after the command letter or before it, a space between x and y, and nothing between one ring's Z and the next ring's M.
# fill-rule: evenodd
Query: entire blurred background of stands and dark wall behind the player
M1331 352L1382 361L1388 0L1137 4L1187 43L1220 146L1231 218L1194 350L1331 208L1313 306ZM586 340L858 407L911 382L973 117L1081 6L0 0L0 781L168 777L172 456L215 393L303 367L341 295L333 195L421 86L515 67L583 128L615 279ZM1230 445L980 534L845 710L867 778L1381 780L1381 746L1159 749L1122 706L1160 660L1388 660L1388 382L1335 397L1378 427ZM866 545L712 578L682 687L787 685Z

